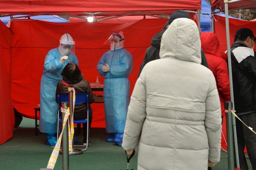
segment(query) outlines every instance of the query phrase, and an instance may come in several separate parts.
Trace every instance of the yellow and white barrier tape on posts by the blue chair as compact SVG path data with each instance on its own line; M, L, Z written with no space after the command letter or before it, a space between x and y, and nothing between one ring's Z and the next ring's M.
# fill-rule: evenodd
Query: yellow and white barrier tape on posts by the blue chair
M74 112L74 108L75 108L75 90L74 88L68 88L69 91L73 91L73 112ZM52 152L52 155L48 161L48 165L47 165L47 168L50 168L50 169L53 169L55 164L56 164L56 161L57 161L57 158L58 158L58 155L59 155L59 150L60 150L60 143L61 143L61 138L62 138L62 133L63 133L63 129L67 123L67 120L68 120L68 117L69 117L69 114L70 114L70 108L68 107L68 109L63 109L61 108L61 112L65 112L65 117L64 117L64 120L63 120L63 125L62 125L62 131L60 133L60 136L57 140L57 143L53 149L53 152ZM74 114L73 114L74 115ZM72 115L72 118L71 118L71 128L69 126L69 123L68 123L68 131L69 131L69 151L72 151L72 141L73 141L73 136L74 136L74 123L73 123L73 115ZM71 130L70 130L71 129Z

